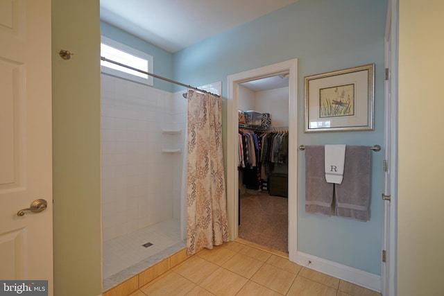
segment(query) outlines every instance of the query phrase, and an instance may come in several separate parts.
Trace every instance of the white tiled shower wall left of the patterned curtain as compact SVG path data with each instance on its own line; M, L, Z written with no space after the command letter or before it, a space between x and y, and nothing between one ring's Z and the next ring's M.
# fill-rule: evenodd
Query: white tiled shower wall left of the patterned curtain
M162 148L182 150L185 138L162 130L185 131L186 120L176 121L186 100L177 104L169 92L107 75L101 88L103 241L108 241L178 218L182 155Z

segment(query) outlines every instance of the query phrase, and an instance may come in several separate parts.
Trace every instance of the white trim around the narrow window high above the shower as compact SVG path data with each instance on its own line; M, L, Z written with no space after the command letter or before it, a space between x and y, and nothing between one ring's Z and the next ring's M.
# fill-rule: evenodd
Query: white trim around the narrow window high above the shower
M112 40L108 37L102 36L101 37L101 43L106 44L108 46L114 47L114 49L118 49L119 51L123 51L126 53L129 53L130 55L135 55L138 58L142 58L144 60L148 61L148 73L153 73L153 56L148 55L148 53L144 53L142 51L138 51L137 49L133 49L130 46L127 46L125 44L121 44L120 42L117 42L115 40ZM107 58L107 57L105 57ZM112 60L110 58L110 60ZM132 80L135 82L143 83L144 85L151 85L153 86L153 76L149 76L147 78L142 78L139 76L132 75L130 73L126 73L123 71L119 71L117 69L112 69L110 67L106 67L102 64L103 61L101 61L101 72L106 73L112 76L117 76L123 79ZM119 62L119 61L116 61Z

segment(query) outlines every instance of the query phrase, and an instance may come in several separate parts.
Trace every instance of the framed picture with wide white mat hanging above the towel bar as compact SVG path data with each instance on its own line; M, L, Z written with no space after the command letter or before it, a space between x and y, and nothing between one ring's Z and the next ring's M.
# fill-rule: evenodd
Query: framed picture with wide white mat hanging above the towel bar
M306 76L305 132L374 130L375 64Z

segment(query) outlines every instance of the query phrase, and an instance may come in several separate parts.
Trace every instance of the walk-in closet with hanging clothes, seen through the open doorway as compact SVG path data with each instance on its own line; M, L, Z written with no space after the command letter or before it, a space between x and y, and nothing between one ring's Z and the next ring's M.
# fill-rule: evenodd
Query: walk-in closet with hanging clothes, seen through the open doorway
M289 85L286 75L239 85L239 238L288 252Z

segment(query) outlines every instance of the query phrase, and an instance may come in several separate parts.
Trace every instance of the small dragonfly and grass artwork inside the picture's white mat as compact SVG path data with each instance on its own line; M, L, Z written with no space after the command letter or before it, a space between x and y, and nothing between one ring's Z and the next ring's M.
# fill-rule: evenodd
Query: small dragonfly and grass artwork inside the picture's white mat
M319 89L319 117L355 115L355 84Z

